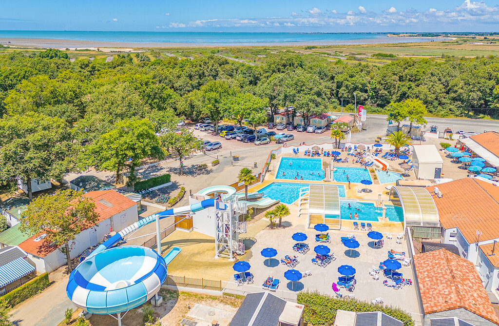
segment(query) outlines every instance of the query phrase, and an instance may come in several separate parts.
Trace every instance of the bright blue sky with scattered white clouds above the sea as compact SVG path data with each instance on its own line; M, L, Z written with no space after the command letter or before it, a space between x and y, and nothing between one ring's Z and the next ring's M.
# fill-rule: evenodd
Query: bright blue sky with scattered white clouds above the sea
M499 0L0 0L0 30L499 31Z

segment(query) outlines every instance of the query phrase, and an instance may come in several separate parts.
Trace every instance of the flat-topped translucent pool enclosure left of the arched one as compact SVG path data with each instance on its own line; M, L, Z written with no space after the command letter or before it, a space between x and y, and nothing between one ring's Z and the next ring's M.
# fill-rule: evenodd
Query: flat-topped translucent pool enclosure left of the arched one
M303 207L302 203L307 201L308 207ZM310 184L308 198L300 189L299 204L300 210L308 209L307 222L309 227L313 227L317 223L324 223L328 224L330 228L340 228L340 195L336 185Z

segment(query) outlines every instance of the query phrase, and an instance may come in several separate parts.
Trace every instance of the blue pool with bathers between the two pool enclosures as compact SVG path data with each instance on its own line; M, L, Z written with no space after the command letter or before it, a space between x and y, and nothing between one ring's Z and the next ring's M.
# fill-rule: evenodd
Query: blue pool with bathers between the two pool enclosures
M350 204L350 207L348 207ZM402 207L394 205L386 206L386 217L391 222L403 222L404 212ZM358 210L357 210L358 209ZM357 213L359 220L378 221L378 217L383 216L383 209L376 207L373 202L357 201L357 200L340 200L340 213L341 219L355 219L354 215Z

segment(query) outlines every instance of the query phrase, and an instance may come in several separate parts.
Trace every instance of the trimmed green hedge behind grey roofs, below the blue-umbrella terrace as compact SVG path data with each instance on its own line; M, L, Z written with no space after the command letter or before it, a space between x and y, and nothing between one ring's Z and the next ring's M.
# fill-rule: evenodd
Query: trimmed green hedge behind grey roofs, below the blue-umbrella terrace
M398 307L373 304L356 299L337 299L318 291L300 292L296 299L298 303L305 306L303 317L312 325L333 325L336 310L340 309L355 312L381 311L402 321L404 326L414 326L411 315Z

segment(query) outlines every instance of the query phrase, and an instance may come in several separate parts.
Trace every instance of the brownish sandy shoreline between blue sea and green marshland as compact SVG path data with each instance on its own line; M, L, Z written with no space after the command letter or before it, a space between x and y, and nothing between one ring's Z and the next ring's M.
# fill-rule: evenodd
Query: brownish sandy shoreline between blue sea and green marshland
M391 39L377 39L366 38L359 40L313 40L313 41L268 41L268 42L218 42L218 43L205 43L205 42L137 42L137 41L103 41L103 40L79 40L79 39L58 39L58 38L1 38L0 44L10 47L32 47L32 48L60 48L60 49L74 49L74 48L88 48L91 50L97 47L106 48L112 47L113 49L120 48L175 48L175 47L247 47L247 46L303 46L303 45L362 45L362 44L397 44L397 43L421 43L428 42L432 39L437 40L450 40L452 38L440 37L409 37L409 36L391 36ZM390 41L391 40L391 41Z

